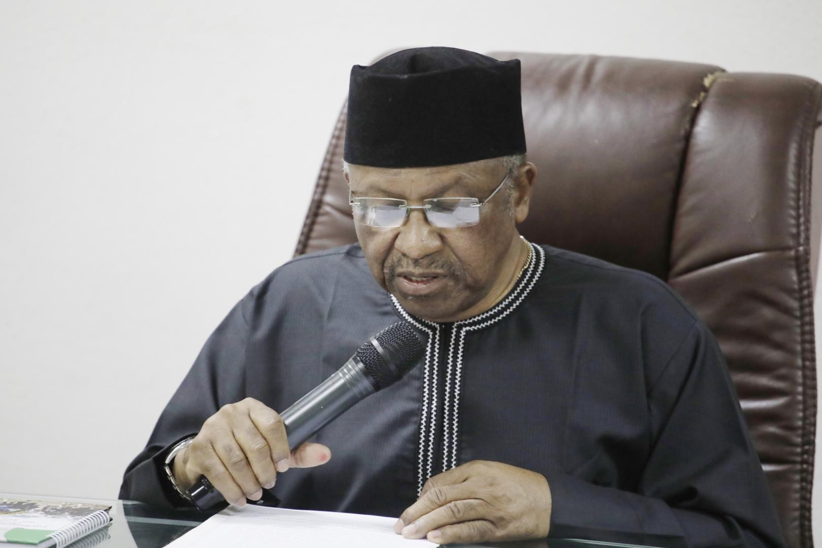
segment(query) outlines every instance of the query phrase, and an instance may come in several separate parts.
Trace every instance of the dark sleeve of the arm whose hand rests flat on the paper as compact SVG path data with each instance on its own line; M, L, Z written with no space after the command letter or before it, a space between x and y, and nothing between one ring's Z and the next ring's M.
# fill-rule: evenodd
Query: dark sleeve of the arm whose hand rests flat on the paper
M563 473L549 536L650 546L786 546L713 334L700 321L649 388L651 451L631 491Z

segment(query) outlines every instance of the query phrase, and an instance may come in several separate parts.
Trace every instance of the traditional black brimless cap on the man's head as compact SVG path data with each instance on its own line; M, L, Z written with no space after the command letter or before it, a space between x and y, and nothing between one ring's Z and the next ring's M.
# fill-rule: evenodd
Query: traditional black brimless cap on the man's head
M525 152L520 60L413 48L354 65L346 162L418 168Z

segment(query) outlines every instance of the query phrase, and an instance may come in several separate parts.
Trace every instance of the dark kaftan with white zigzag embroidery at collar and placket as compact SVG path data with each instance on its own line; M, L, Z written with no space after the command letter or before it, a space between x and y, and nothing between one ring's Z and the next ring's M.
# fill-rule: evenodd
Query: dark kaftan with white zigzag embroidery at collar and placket
M502 302L443 324L404 311L358 245L291 260L205 343L120 497L187 504L163 472L171 444L248 396L284 410L402 318L427 334L426 356L316 435L333 456L278 477L284 507L396 517L427 477L485 459L547 478L550 536L784 546L727 366L694 312L650 274L533 251Z

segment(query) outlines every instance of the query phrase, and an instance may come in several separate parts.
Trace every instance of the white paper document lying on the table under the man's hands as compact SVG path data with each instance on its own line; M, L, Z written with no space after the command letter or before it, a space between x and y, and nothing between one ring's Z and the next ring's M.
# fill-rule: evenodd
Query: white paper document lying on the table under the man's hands
M288 510L247 504L206 519L168 548L425 548L436 544L394 532L396 518Z

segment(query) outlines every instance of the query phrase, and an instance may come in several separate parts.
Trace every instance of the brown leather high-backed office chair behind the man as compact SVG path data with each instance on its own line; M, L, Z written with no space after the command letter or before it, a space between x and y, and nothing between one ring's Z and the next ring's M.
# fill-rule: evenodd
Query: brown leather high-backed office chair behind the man
M522 60L538 186L521 233L642 269L690 303L727 358L788 544L811 548L822 85L686 62L492 56ZM343 109L297 255L356 241L344 127Z

